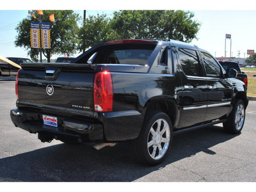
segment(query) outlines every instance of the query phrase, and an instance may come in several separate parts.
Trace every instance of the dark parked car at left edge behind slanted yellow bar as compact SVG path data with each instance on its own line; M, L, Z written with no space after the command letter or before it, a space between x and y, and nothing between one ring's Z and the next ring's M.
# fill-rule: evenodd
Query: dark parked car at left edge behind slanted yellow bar
M13 61L14 63L20 65L20 63L33 63L33 61L29 60L28 58L13 58L8 57L8 60ZM0 76L16 76L19 68L9 63L3 62L0 63Z

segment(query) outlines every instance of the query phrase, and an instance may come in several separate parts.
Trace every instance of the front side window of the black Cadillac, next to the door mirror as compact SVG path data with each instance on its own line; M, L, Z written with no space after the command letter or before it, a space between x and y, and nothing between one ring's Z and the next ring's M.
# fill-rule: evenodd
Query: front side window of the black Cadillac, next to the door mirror
M204 67L207 77L218 77L221 75L221 68L218 63L212 58L211 55L201 52L202 58L204 60Z

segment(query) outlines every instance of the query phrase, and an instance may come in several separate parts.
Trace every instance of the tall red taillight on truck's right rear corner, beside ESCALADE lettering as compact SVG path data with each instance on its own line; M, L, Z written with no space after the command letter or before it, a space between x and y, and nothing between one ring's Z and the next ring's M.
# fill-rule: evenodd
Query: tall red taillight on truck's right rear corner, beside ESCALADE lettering
M93 84L94 109L97 112L109 112L113 107L113 85L110 72L99 72Z

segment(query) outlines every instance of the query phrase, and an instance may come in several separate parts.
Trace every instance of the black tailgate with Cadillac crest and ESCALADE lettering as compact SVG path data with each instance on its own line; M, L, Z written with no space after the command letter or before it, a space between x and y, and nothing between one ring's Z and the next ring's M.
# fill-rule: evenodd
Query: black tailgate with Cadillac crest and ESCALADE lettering
M29 63L19 73L19 104L93 111L95 65Z

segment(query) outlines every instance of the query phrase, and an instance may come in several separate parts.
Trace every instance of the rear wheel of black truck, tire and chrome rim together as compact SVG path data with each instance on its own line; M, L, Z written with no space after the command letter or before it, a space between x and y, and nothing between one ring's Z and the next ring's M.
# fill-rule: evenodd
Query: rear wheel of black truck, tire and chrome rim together
M140 136L133 141L133 152L143 164L156 165L164 161L172 145L173 127L168 115L152 112L141 129Z

